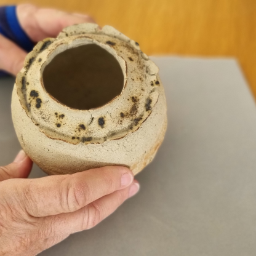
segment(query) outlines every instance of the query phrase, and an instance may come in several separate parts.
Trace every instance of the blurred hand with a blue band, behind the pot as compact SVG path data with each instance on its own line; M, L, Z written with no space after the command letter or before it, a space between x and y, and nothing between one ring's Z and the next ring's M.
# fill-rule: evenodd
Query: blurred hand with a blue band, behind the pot
M25 33L33 42L55 38L66 26L94 23L88 15L68 14L60 10L41 9L32 4L17 6L17 17ZM17 75L26 57L25 50L0 34L0 70Z

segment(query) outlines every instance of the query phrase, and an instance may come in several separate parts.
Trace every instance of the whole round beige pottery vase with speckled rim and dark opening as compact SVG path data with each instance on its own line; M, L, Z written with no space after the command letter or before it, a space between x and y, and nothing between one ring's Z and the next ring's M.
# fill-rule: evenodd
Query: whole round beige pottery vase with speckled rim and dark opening
M12 94L23 150L47 174L154 158L167 126L158 67L111 26L65 28L26 56Z

